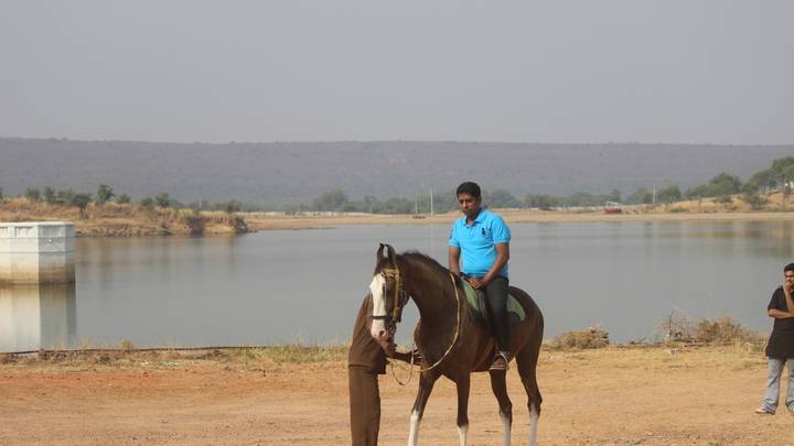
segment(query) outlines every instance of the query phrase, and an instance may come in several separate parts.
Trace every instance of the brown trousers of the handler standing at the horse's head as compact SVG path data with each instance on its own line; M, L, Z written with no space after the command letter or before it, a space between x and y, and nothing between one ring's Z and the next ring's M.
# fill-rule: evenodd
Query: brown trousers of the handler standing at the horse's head
M380 428L380 392L377 373L366 367L348 366L351 435L353 446L377 445Z

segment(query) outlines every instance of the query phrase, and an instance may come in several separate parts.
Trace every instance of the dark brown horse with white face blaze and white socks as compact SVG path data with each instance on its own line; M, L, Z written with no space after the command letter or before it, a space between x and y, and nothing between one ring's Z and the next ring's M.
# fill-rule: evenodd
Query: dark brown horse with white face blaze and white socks
M384 257L384 248L387 254ZM460 444L466 444L469 431L470 373L485 371L495 352L491 335L475 324L473 312L465 302L462 282L437 261L418 252L396 254L394 248L380 244L373 282L373 325L375 338L389 337L400 320L403 307L412 298L419 308L420 319L414 333L422 356L419 391L411 411L408 445L415 446L419 437L419 423L436 380L447 377L458 388L458 433ZM529 445L537 440L540 416L540 391L537 367L544 320L535 302L522 290L511 286L509 294L524 307L526 318L511 329L511 350L515 352L524 390L527 393L530 431ZM502 443L511 443L513 404L507 396L504 370L490 371L491 388L498 401L503 423Z

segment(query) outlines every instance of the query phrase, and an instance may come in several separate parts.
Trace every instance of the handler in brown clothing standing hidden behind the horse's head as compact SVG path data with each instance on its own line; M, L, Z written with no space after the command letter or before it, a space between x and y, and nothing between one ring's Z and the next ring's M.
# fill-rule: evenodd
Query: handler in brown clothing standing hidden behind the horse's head
M372 294L367 294L353 326L353 339L347 355L353 446L377 445L380 428L380 391L377 376L386 373L386 357L406 362L411 360L410 353L396 351L390 339L382 345L372 337ZM414 361L418 362L416 356Z

